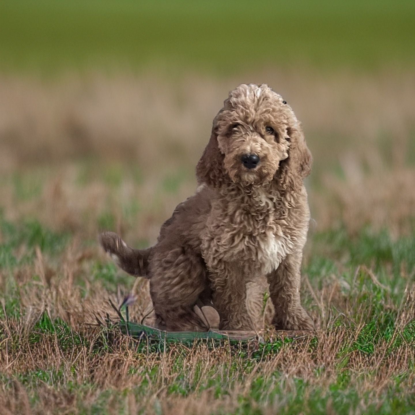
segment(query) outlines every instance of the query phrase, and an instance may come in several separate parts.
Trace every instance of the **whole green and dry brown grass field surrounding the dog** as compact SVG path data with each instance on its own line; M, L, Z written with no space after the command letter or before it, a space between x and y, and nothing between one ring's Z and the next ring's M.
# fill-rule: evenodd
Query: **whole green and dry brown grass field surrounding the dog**
M0 414L415 413L414 2L0 2ZM212 118L269 83L314 165L301 297L314 337L168 345L109 300L194 192ZM163 349L163 348L161 348Z

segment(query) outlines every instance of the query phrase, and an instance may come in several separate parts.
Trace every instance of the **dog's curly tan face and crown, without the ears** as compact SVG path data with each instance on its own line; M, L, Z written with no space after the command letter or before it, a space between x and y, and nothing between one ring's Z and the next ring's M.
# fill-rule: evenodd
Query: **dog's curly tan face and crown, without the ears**
M289 126L297 122L281 95L266 85L240 85L216 119L224 167L235 183L260 185L273 179L288 158Z

